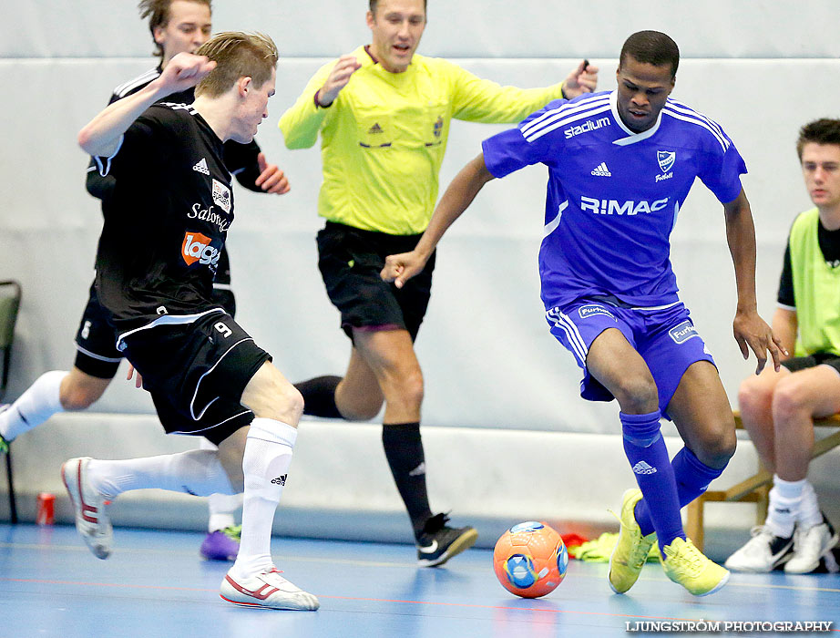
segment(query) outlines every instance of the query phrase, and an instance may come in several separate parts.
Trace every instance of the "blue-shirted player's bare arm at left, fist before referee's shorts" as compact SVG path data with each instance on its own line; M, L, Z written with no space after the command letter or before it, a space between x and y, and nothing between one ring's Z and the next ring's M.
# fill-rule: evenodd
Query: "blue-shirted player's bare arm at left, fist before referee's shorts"
M494 177L484 161L482 153L475 160L470 161L456 175L444 196L440 199L425 229L423 237L417 242L415 250L397 255L388 255L381 276L386 282L394 282L397 288L402 288L405 282L420 273L435 252L437 242L440 242L448 229L461 213L476 199L478 191L484 188Z

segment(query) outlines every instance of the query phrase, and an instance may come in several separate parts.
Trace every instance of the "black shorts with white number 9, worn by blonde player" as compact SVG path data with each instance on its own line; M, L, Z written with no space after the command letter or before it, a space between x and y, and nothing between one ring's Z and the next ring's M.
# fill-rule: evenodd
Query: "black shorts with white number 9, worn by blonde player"
M240 403L242 391L271 355L230 314L158 325L123 341L168 433L207 437L219 445L251 423L253 413Z

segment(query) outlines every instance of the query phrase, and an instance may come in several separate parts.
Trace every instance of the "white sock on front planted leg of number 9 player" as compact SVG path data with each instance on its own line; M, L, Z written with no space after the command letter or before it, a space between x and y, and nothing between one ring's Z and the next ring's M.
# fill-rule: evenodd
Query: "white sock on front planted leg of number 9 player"
M230 568L237 576L253 576L274 567L271 526L297 434L294 427L271 418L255 418L251 423L242 458L245 499L240 551Z

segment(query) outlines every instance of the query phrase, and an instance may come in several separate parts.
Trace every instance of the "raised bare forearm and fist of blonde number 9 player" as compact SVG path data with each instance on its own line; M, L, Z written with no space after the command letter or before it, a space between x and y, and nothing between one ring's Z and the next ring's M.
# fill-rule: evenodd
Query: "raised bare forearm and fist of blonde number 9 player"
M109 157L119 148L120 136L143 111L172 93L198 84L216 67L204 56L179 53L169 60L163 73L128 98L122 98L100 111L78 134L78 145L88 155Z

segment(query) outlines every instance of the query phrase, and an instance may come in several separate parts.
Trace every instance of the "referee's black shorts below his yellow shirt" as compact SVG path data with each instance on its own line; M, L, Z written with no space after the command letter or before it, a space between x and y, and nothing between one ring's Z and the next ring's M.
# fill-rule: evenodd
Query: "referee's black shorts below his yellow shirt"
M414 250L420 237L360 231L333 221L318 232L318 268L351 339L354 327L381 325L405 328L412 341L417 338L432 294L435 253L403 288L382 281L380 272L385 257Z

